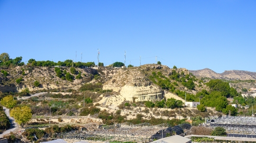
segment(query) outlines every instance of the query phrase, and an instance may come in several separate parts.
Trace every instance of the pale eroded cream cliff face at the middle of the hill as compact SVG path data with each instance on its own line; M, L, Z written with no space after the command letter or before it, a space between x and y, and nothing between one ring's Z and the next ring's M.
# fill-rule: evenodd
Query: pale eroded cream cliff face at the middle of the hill
M170 76L172 70L189 74L185 68L171 69L167 66L154 64L125 69L103 69L102 72L107 76L106 79L110 79L103 84L103 89L111 89L127 101L153 101L161 100L164 97L183 101L177 95L163 91L160 86L153 84L148 78L152 71L160 71L163 75Z

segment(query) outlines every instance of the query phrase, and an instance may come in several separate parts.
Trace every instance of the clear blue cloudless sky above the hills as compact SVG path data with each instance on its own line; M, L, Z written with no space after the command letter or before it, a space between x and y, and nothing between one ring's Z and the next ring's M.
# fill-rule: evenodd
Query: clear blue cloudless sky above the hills
M256 0L0 0L10 58L256 72Z

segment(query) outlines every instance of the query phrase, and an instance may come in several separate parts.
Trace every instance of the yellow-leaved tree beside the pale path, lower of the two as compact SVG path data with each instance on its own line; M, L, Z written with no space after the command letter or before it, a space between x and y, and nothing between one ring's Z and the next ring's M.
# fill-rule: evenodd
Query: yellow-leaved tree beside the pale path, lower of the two
M27 106L16 107L10 111L10 116L13 117L18 124L23 127L31 118L31 109Z

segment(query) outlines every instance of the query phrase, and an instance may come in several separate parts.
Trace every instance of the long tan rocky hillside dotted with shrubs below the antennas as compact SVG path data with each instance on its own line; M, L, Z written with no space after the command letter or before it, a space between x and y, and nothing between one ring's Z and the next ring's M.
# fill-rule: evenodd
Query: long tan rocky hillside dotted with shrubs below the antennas
M62 71L70 72L69 67L61 67ZM25 74L22 72L25 72ZM168 82L168 88L170 84L173 88L180 91L186 91L187 93L197 93L201 89L207 88L206 85L198 83L199 80L193 78L194 89L188 89L185 87L181 80L177 81L171 79L170 76L173 73L177 73L183 78L185 75L190 75L189 71L185 68L172 69L163 65L148 64L140 67L129 68L113 68L113 67L100 67L99 69L93 68L76 68L77 73L81 72L82 79L74 79L72 82L64 80L56 76L54 67L15 67L8 69L8 76L4 76L0 73L0 91L1 92L21 92L25 88L29 91L41 91L50 89L78 89L84 83L101 83L103 90L112 90L116 95L120 95L127 101L148 101L166 98L175 98L177 100L184 101L176 94L171 93L168 89L162 86ZM72 74L75 77L76 74ZM150 76L155 77L153 82ZM95 76L97 75L97 76ZM97 77L97 78L95 78ZM20 83L16 80L22 78ZM160 79L161 78L161 79ZM184 78L187 80L188 77ZM38 81L40 86L36 87L34 82ZM158 83L158 84L156 84Z

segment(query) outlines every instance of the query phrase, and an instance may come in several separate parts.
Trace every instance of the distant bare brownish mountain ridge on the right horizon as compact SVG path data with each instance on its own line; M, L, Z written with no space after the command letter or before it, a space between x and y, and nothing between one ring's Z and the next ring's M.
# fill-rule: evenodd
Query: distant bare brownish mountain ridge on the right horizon
M225 70L219 74L209 68L201 70L189 70L194 76L208 77L213 79L227 79L227 80L256 80L256 72L249 72L243 70Z

